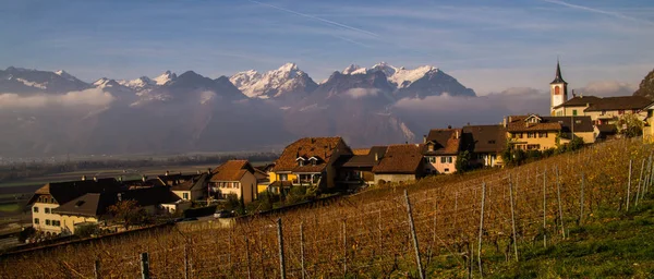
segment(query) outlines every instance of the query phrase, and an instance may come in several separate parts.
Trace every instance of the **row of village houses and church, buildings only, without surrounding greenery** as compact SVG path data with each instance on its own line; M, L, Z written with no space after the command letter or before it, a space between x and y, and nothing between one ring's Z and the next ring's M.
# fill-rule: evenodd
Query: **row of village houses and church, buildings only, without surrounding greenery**
M282 193L293 186L318 190L337 186L401 183L428 174L453 173L457 157L469 151L470 163L502 165L506 148L546 150L576 137L585 144L615 135L620 117L635 114L644 134L654 135L654 102L638 96L576 96L568 99L567 83L557 64L550 83L552 116L510 116L498 124L465 125L431 130L419 144L351 148L342 137L305 137L288 145L275 163L253 167L230 160L204 173L167 172L153 179L92 179L48 183L36 191L32 205L33 226L53 234L74 233L84 223L108 217L107 208L134 199L150 214L174 213L193 202L225 201L230 195L245 204L266 191Z

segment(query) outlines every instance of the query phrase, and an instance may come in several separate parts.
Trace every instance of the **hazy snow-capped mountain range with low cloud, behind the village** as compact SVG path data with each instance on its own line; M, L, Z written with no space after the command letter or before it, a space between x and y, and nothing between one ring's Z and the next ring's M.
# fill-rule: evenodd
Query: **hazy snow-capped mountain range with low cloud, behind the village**
M403 98L474 90L437 68L350 65L319 84L294 63L210 78L193 71L85 83L65 71L0 70L0 157L280 149L302 136L352 146L413 142Z

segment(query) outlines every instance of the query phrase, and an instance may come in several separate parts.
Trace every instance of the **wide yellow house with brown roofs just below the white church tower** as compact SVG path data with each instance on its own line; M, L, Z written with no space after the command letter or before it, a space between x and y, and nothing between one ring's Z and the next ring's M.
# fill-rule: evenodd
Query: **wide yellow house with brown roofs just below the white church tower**
M505 123L509 145L523 150L556 148L573 137L591 144L598 135L590 117L511 116Z

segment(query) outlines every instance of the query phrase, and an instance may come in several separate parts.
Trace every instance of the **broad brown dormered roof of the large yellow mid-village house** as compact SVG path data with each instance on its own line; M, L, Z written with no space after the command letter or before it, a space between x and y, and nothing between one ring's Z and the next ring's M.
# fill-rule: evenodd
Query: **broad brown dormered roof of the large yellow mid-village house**
M339 136L300 138L283 149L281 156L275 161L275 167L271 171L323 172L327 163L331 161L331 157L339 146L346 148L346 150L340 151L348 155L352 154L350 147ZM305 159L305 163L302 167L298 163L299 157ZM311 157L317 158L315 166L308 161Z

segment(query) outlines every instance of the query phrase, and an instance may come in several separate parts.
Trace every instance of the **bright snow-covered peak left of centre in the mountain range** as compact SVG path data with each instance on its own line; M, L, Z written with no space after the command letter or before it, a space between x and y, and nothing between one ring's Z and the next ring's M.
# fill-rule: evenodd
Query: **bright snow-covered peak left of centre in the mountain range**
M264 74L254 70L240 72L229 80L245 96L261 99L304 97L317 87L295 63L286 63Z

